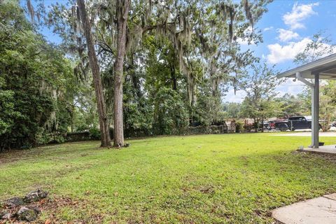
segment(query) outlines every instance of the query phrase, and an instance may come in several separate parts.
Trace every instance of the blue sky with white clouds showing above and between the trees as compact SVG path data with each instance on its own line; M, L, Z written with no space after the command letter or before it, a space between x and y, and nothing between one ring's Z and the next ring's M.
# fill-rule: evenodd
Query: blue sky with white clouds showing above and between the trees
M46 6L57 0L45 0ZM64 3L64 0L59 1ZM33 1L33 4L36 1ZM336 1L290 1L275 0L267 6L268 12L255 26L262 31L263 43L247 45L241 41L243 50L251 49L255 55L265 59L270 65L275 64L278 71L293 68L293 58L302 51L318 31L325 31L332 41L336 38ZM52 31L44 28L43 35L48 41L59 43L61 40ZM304 85L287 80L277 88L279 94L302 92ZM241 102L243 90L230 89L223 97L224 102Z

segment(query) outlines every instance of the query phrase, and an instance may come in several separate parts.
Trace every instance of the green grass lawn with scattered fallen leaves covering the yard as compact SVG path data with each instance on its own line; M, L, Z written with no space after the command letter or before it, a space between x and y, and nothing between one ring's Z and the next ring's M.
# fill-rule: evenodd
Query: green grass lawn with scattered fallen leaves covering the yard
M293 153L309 137L127 142L122 150L87 141L0 155L0 200L48 190L56 205L40 222L54 213L57 223L272 223L276 207L336 192L336 157Z

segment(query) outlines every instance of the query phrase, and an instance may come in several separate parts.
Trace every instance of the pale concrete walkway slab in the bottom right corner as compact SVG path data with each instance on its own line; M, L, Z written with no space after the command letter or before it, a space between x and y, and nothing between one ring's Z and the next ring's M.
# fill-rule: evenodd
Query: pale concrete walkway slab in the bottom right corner
M272 216L283 224L335 224L336 194L275 209L272 211Z

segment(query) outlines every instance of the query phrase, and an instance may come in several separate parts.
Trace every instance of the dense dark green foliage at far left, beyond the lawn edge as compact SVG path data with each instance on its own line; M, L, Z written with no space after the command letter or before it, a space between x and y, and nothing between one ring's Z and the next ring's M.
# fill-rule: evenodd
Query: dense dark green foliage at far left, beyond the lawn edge
M0 148L44 144L70 123L71 62L35 31L16 1L0 4L0 20Z

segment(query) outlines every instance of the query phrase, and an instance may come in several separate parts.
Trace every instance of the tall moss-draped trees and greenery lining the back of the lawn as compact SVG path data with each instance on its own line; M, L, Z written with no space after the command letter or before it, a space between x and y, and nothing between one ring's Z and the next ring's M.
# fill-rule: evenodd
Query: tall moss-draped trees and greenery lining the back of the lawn
M1 148L83 130L121 147L124 136L297 109L297 97L276 98L274 68L240 48L262 41L255 23L269 1L25 3L0 2ZM43 27L62 42L45 41ZM222 103L229 87L248 92L242 104Z

